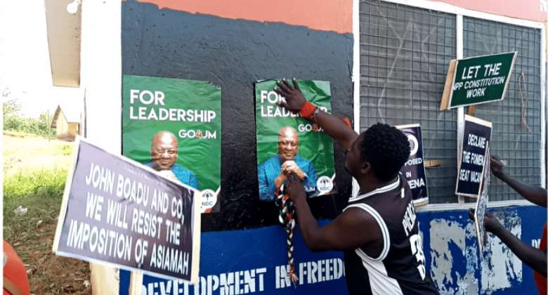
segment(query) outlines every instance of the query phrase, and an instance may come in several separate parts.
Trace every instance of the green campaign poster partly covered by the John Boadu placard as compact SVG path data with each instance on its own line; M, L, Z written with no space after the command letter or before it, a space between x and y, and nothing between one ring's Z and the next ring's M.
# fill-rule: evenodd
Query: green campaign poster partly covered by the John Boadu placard
M122 152L202 192L218 212L221 89L206 81L124 75Z

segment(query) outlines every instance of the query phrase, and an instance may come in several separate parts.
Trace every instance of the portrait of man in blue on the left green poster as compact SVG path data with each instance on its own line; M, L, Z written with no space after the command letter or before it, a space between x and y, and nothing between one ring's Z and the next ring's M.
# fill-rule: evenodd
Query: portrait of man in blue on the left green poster
M150 145L151 162L146 163L146 166L152 167L159 171L167 178L176 178L185 185L190 185L197 190L198 178L190 170L175 164L177 161L177 138L169 131L159 131L152 137Z

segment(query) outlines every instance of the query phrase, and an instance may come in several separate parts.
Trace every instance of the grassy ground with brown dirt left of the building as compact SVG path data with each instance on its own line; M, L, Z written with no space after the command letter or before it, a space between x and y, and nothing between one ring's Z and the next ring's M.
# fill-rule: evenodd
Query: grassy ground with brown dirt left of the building
M25 263L31 294L91 294L88 264L51 251L73 145L4 131L4 240Z

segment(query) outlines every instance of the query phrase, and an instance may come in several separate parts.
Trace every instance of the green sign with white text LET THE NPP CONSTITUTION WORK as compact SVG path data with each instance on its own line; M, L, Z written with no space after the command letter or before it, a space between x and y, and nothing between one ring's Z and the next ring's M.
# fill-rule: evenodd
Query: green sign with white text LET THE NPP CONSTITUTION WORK
M456 60L448 73L452 83L446 82L443 91L443 98L449 101L444 105L442 100L441 110L502 100L516 55L517 52L510 52Z

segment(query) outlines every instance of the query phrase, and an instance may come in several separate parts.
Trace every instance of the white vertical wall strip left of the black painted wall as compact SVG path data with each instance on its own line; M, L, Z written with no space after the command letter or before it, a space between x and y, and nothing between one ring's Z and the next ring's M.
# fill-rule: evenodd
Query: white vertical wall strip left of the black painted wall
M81 5L81 80L86 113L82 130L91 143L122 150L122 52L120 0L84 0ZM115 268L90 263L93 294L118 294Z

